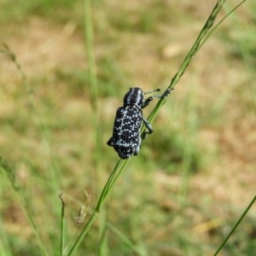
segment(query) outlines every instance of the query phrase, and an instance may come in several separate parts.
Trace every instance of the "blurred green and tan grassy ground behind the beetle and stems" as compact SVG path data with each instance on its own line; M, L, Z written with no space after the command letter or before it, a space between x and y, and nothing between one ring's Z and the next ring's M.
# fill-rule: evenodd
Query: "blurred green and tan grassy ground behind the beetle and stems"
M215 3L93 1L92 51L82 1L0 0L0 41L28 81L1 45L0 154L20 186L15 193L1 171L1 255L45 255L26 212L49 255L58 255L61 193L66 243L79 235L73 219L84 189L91 195L86 222L118 160L106 142L123 96L131 86L166 89ZM227 1L220 17L237 3ZM255 195L255 13L255 1L244 3L195 56L75 255L216 251ZM88 50L96 60L96 110ZM29 201L25 208L19 195ZM255 253L255 210L219 255Z

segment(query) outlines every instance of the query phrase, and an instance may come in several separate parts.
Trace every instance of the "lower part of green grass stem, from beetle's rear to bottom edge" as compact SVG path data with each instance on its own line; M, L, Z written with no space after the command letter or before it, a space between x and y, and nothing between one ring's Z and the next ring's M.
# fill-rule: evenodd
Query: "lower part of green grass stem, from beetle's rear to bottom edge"
M95 211L90 216L87 224L84 226L84 230L82 230L82 232L80 233L78 239L73 244L73 247L70 249L69 253L67 253L67 256L72 255L72 253L79 247L79 244L81 243L81 241L83 241L84 236L90 230L91 225L94 223L96 217L98 216L100 209L102 207L102 203L107 199L109 192L113 189L114 183L116 183L120 173L125 170L125 166L127 166L129 160L120 159L116 164L116 166L114 167L113 172L111 172L110 176L108 177L107 183L102 189L102 194L100 195Z

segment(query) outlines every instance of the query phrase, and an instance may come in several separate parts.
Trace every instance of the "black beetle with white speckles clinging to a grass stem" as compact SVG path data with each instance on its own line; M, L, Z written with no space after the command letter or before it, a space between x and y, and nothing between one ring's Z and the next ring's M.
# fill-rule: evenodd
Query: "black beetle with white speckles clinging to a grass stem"
M163 96L150 96L145 100L145 94L160 91L160 89L143 93L138 87L130 88L125 94L123 107L116 111L113 122L113 135L108 140L108 146L114 148L123 160L137 155L141 148L142 140L153 132L152 126L147 119L143 118L143 108L146 108L154 98L166 97L171 90L168 89ZM140 136L142 124L146 125L148 131Z

